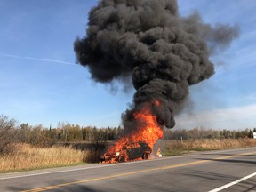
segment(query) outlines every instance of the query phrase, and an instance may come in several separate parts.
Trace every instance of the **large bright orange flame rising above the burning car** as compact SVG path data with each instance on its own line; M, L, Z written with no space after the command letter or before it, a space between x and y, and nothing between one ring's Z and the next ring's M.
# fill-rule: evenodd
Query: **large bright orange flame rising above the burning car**
M161 103L158 100L154 101L156 106L160 106ZM140 110L133 114L134 121L136 121L137 127L128 135L120 138L116 143L108 148L106 154L113 154L116 151L122 150L124 146L129 142L145 142L150 148L153 149L156 140L163 138L164 132L161 125L157 123L156 116L150 111L150 106L146 105ZM108 162L111 163L111 162Z

